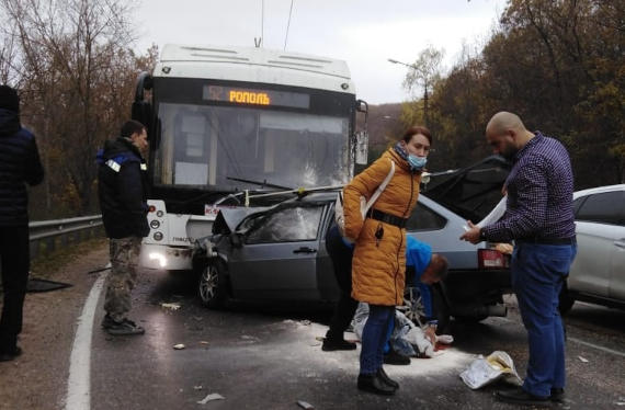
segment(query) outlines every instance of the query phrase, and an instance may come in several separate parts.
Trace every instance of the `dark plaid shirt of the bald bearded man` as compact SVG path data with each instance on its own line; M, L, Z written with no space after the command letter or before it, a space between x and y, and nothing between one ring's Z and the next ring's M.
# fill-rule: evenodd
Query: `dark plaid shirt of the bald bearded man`
M573 176L566 148L541 133L514 156L505 214L482 228L491 242L575 237Z

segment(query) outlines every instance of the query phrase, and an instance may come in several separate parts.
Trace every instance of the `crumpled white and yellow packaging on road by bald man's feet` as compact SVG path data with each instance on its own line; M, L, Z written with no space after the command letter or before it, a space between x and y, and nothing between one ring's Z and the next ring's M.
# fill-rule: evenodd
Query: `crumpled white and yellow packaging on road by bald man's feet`
M461 378L474 390L499 379L515 386L523 384L512 357L502 351L495 351L486 357L479 355L461 373Z

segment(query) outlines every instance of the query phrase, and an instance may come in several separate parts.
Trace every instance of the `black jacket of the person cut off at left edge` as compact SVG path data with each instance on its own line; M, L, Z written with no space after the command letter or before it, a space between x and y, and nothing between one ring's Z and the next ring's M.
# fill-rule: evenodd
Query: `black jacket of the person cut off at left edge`
M43 179L35 136L22 128L16 112L0 109L0 226L29 224L26 183Z

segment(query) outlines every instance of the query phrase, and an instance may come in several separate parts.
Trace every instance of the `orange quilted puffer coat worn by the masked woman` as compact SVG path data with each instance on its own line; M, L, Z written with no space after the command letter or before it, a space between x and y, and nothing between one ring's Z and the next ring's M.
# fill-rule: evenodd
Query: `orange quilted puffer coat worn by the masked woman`
M372 305L395 306L404 301L404 276L406 272L406 229L363 218L360 197L370 198L390 171L395 174L379 195L374 209L407 218L412 213L419 196L420 173L410 172L408 162L395 149L384 152L371 167L356 175L343 190L345 236L355 238L352 260L352 297ZM379 241L375 232L382 227Z

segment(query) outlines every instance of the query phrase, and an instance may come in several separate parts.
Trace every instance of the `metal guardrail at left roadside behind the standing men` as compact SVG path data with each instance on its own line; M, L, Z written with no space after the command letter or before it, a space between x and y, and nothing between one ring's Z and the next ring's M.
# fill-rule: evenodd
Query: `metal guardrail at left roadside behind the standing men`
M102 226L102 215L68 219L36 220L29 224L31 259L93 237Z

